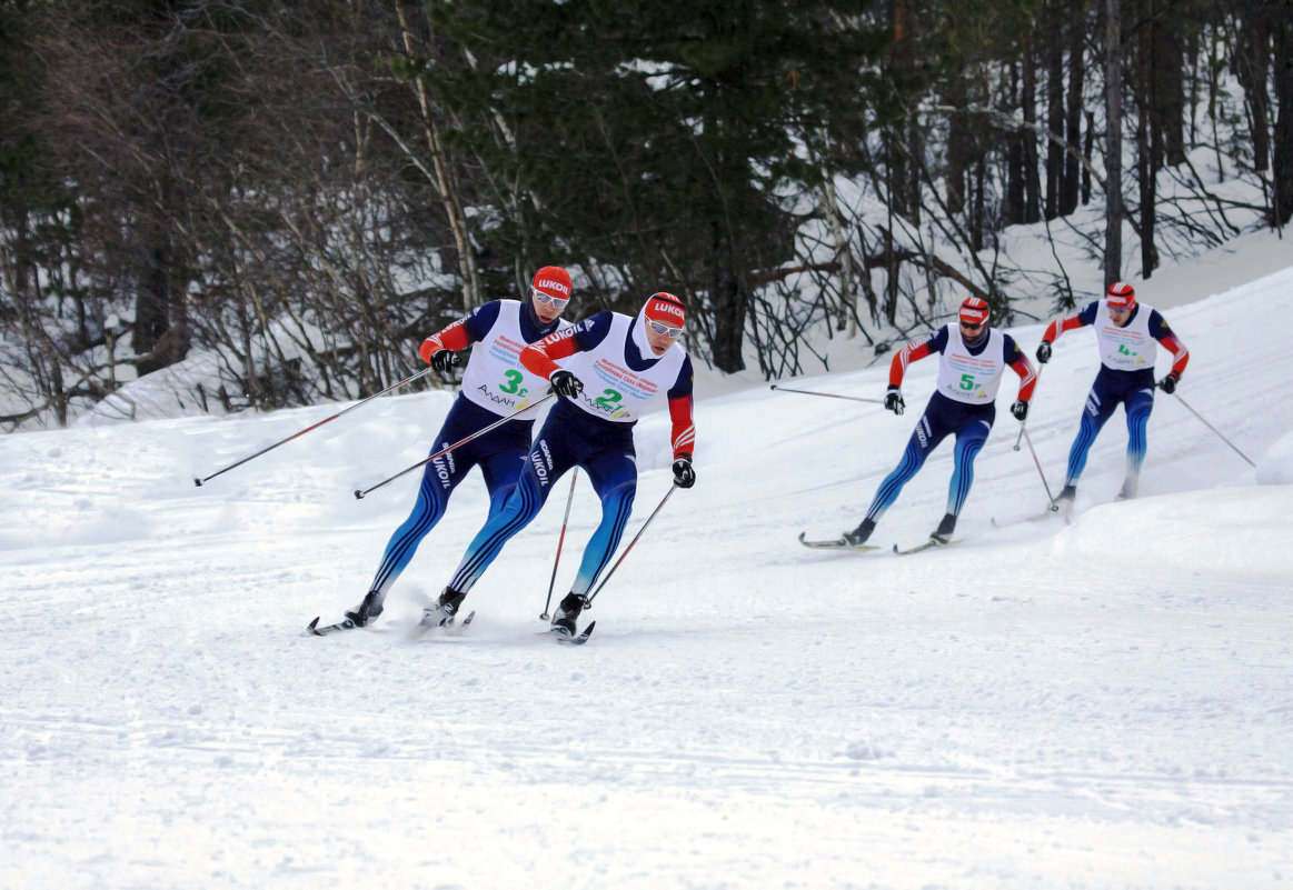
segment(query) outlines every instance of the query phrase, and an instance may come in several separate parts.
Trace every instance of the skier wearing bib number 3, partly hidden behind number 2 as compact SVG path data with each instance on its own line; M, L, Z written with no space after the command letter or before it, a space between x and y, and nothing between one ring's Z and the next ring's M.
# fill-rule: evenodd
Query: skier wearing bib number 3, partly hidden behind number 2
M458 399L432 443L432 453L489 426L548 390L546 377L521 364L530 344L570 328L560 315L570 302L570 274L560 266L534 273L528 298L493 300L473 309L443 331L427 337L418 350L423 360L445 372L458 363L458 353L476 344L463 372ZM449 497L473 466L481 468L490 495L489 514L497 515L516 488L530 450L537 408L490 430L427 464L412 513L403 521L381 557L363 602L345 614L358 626L381 615L381 602L412 559L418 544L445 515Z

